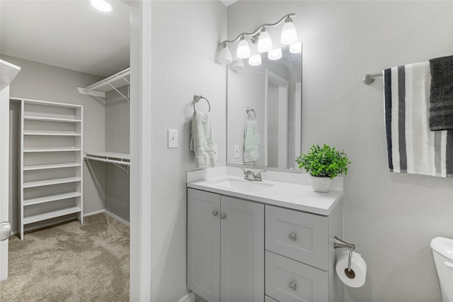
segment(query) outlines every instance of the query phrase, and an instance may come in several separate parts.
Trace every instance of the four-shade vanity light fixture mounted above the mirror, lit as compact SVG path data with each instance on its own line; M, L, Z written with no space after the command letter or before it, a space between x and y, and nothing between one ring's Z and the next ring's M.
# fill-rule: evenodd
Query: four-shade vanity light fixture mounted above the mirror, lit
M272 24L265 23L258 27L258 29L253 31L252 33L241 33L234 40L222 41L219 44L220 47L222 47L219 56L220 64L222 65L231 64L231 60L229 60L229 58L232 56L228 44L236 43L238 40L239 44L236 50L236 57L238 57L239 59L247 59L248 57L250 57L251 50L247 38L250 38L253 44L258 43L257 45L258 52L274 51L273 55L269 55L270 57L275 57L275 59L271 60L280 59L282 50L280 48L278 48L278 50L277 49L272 50L273 42L272 38L270 38L270 34L268 33L267 28L279 26L281 23L285 22L285 25L282 28L280 40L283 45L292 44L297 40L297 30L294 24L292 23L291 18L292 16L295 16L295 13L287 13L276 23ZM278 57L278 52L280 52L280 57Z

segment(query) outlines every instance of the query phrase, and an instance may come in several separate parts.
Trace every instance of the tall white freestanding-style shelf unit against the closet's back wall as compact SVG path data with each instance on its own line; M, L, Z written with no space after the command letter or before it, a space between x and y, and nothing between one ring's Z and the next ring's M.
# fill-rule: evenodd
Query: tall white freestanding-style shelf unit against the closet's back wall
M24 225L70 214L83 223L83 106L12 100L21 106L19 236Z

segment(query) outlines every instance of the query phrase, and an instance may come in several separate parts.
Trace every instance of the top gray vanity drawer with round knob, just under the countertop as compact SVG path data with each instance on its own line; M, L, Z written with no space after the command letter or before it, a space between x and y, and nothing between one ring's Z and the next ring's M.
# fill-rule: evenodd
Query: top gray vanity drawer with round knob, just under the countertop
M328 269L328 218L265 206L265 249Z

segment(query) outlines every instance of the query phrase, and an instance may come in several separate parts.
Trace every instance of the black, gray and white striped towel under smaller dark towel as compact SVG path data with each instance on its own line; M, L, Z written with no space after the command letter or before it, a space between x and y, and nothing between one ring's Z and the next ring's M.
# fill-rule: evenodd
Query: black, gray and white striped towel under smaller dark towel
M430 131L430 63L382 73L391 172L453 177L453 130Z

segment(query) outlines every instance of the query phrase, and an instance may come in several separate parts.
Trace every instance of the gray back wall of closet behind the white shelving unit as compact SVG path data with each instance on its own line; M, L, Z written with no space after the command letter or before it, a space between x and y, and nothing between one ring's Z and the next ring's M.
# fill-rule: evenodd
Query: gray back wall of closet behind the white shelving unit
M79 94L76 89L76 87L86 87L98 82L101 78L70 69L23 60L18 57L1 55L1 59L21 67L21 72L10 86L11 97L83 105L84 150L104 149L105 101ZM14 108L16 108L16 112L14 112ZM17 116L17 106L11 106L11 109L10 116ZM18 150L10 150L10 152L14 154ZM90 169L90 166L93 169ZM84 164L84 213L100 211L104 208L104 164L91 162L90 166ZM14 174L13 171L17 169L15 167L17 167L17 160L11 162L10 192L17 192L18 179L17 174ZM16 211L11 210L11 208L17 208L17 193L11 194L10 211ZM16 215L11 220L13 228L17 230Z

